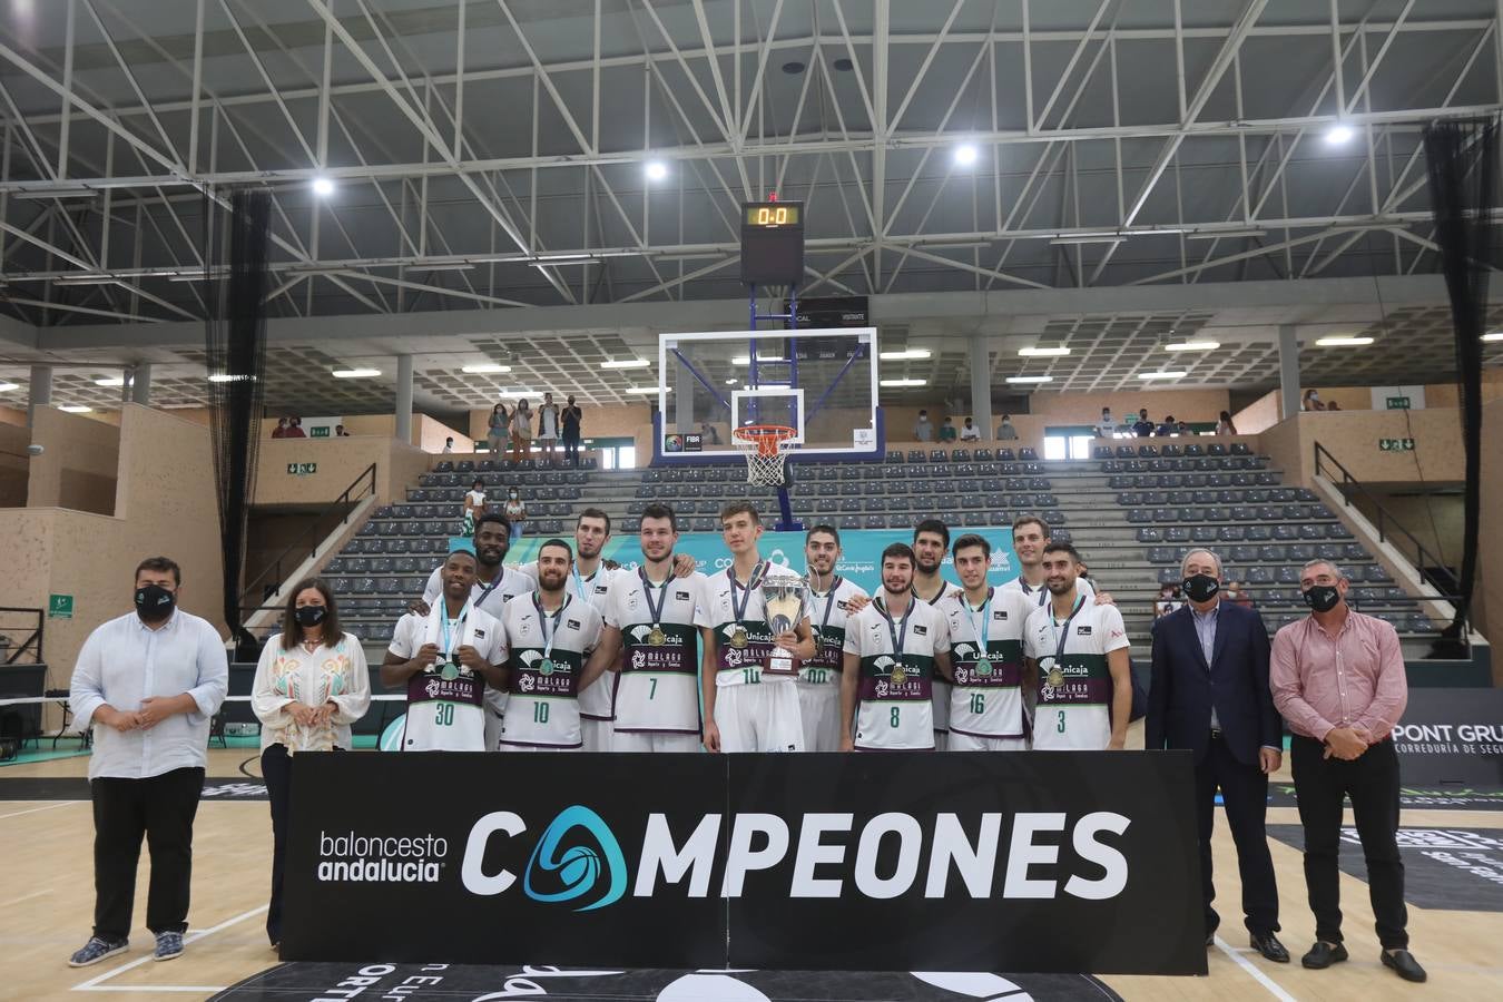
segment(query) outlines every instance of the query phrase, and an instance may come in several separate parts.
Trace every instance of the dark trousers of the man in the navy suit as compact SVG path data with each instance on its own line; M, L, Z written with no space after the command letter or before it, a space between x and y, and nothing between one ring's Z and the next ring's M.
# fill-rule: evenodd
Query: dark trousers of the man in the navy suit
M1205 901L1205 933L1216 931L1220 916L1211 907L1211 828L1216 819L1216 790L1222 792L1226 823L1237 844L1237 870L1241 874L1241 912L1255 936L1279 931L1279 889L1273 877L1273 856L1263 822L1269 810L1269 777L1258 766L1237 762L1220 738L1211 738L1205 757L1195 766L1195 820L1201 843L1201 892Z

